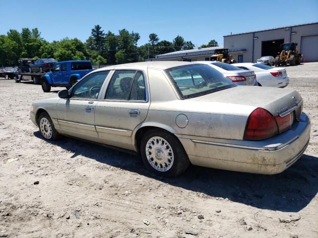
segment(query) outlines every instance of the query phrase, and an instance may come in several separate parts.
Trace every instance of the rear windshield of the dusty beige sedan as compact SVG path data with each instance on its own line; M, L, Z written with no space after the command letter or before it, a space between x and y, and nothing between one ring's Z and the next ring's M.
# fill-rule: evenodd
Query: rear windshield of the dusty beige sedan
M207 64L178 66L165 71L182 99L235 87L232 80Z

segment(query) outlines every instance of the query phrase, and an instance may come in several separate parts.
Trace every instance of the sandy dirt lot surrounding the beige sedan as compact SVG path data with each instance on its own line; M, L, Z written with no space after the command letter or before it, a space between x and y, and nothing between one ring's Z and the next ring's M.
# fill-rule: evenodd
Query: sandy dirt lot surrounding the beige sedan
M297 163L275 176L191 166L175 179L102 146L43 140L29 108L58 91L0 78L0 237L318 238L318 63L287 71L312 119Z

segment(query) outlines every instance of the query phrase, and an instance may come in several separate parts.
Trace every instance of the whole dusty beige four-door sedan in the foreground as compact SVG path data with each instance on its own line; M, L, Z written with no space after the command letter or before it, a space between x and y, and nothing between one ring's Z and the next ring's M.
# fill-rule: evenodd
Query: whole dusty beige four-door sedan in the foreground
M162 176L181 174L189 163L280 173L310 138L297 91L236 86L206 64L104 67L59 95L32 104L30 118L46 139L62 134L136 151Z

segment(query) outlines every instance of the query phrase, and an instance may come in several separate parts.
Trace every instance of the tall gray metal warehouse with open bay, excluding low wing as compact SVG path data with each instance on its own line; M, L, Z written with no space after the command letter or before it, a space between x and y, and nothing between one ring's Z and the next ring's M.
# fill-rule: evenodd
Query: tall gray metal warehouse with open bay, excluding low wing
M262 56L277 56L280 45L298 43L303 61L318 61L318 22L224 36L224 47L238 62L255 62ZM236 54L235 49L246 49Z

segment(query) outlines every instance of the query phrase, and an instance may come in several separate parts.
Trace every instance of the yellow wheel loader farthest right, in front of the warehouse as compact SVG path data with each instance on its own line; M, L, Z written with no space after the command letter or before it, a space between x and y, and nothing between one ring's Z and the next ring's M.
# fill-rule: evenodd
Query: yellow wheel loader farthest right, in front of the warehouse
M295 65L302 62L302 54L296 49L297 43L284 43L281 45L282 51L275 58L275 66Z

